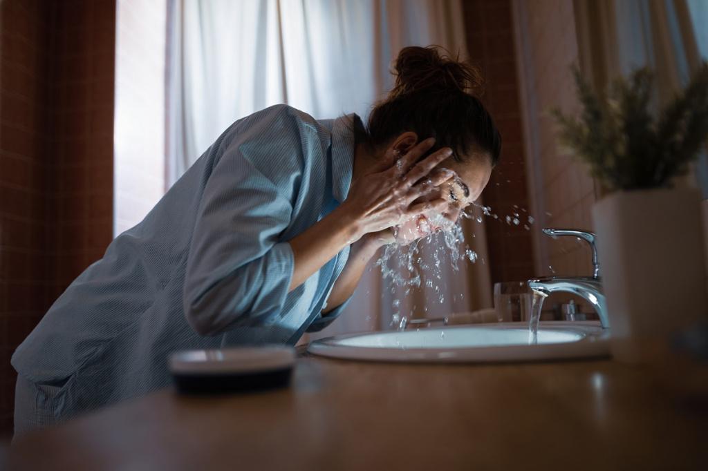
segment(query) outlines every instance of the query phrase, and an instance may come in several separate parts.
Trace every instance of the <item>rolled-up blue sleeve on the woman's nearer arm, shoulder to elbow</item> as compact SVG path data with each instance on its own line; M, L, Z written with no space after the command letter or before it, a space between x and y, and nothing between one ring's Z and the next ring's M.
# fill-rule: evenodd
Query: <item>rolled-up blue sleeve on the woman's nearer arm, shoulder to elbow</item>
M190 243L184 312L201 335L257 325L282 308L292 279L280 236L302 172L297 129L279 115L247 124L215 163Z

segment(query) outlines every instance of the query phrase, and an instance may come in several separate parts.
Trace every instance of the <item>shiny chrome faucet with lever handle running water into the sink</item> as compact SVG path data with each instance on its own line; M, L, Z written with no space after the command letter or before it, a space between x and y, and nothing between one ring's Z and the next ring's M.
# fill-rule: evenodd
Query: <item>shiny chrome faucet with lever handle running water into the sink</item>
M580 296L593 306L598 313L603 329L610 327L607 320L607 305L603 294L603 285L600 283L600 263L598 262L598 249L595 247L595 234L576 229L543 229L544 234L556 238L559 236L573 236L585 240L593 250L593 276L592 277L544 277L530 279L528 286L531 291L541 293L543 298L550 293L573 293ZM539 303L543 299L539 299ZM540 310L540 309L539 309Z

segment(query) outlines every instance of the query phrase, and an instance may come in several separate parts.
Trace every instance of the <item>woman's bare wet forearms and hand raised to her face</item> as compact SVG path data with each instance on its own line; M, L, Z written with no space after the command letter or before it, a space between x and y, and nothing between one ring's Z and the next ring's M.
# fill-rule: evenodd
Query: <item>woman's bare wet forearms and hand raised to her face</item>
M300 286L337 252L356 241L357 255L336 282L330 295L336 306L351 295L366 262L376 250L394 242L392 228L418 214L441 214L448 202L439 186L452 178L451 170L431 170L448 158L452 151L441 149L416 163L433 146L426 139L404 156L392 147L382 163L359 178L348 198L314 226L292 238L290 247L295 259L290 290ZM329 301L328 301L329 303Z

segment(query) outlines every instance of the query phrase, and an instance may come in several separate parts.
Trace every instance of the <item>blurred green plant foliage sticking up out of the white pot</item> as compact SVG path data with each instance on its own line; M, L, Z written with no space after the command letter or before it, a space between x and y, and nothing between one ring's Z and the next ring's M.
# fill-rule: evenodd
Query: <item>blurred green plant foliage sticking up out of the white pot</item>
M596 92L573 67L579 117L552 115L559 141L610 190L669 187L708 138L708 63L663 109L652 113L653 73L644 67ZM657 107L658 108L658 107Z

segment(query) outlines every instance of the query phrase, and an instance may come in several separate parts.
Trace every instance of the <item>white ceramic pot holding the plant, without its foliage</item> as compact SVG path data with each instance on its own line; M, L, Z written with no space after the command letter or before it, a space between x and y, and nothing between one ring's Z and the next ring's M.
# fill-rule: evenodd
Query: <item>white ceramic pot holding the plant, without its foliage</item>
M595 203L612 356L653 361L675 332L707 317L700 194L617 192Z

